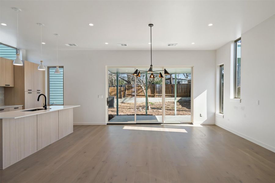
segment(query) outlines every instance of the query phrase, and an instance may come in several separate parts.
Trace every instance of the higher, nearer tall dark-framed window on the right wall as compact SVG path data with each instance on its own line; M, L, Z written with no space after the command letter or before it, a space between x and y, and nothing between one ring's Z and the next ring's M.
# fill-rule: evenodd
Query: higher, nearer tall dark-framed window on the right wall
M234 92L235 98L240 98L240 72L241 72L241 38L235 41L235 63L234 63Z

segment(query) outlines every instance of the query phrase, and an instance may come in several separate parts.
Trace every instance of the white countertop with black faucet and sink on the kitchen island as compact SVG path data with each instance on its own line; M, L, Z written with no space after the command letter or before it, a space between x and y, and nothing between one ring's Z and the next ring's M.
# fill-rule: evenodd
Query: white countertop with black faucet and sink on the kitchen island
M69 109L73 107L79 107L79 106L47 106L47 110L38 110L38 111L24 111L24 110L30 110L30 109L23 109L23 110L16 110L16 111L9 111L9 112L3 112L0 113L0 119L9 119L9 118L20 118L20 117L27 117L37 114L43 114L43 113L49 113L53 111L63 110L63 109ZM32 109L43 109L43 107L39 108L32 108Z

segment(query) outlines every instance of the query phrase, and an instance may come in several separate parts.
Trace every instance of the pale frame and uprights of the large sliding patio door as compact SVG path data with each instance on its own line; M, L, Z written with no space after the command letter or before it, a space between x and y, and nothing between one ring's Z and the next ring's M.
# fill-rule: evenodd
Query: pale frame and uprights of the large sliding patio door
M105 80L105 86L106 86L106 93L105 93L105 112L106 112L106 120L105 123L108 123L108 105L107 105L107 98L108 98L108 94L109 94L109 85L108 85L108 69L109 68L129 68L129 67L133 67L134 70L136 70L137 67L148 67L148 66L106 66L106 80ZM194 123L194 109L193 109L193 81L194 81L194 66L155 66L155 67L159 67L162 68L162 70L165 69L169 69L169 68L175 68L175 67L181 67L181 68L191 68L191 123ZM163 71L162 71L162 74ZM165 123L165 77L162 79L162 123ZM129 124L138 124L137 120L136 120L136 116L137 116L137 107L136 107L136 78L135 78L135 82L134 82L134 91L135 91L135 95L134 95L134 107L135 107L135 112L134 112L134 123L128 122ZM113 124L125 124L125 122L113 122ZM158 122L159 123L159 122ZM171 123L170 123L171 124Z

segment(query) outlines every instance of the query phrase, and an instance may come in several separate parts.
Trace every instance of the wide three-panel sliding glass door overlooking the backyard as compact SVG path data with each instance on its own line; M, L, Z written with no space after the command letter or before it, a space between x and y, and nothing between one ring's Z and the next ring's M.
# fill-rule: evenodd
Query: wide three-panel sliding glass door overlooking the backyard
M148 70L108 68L108 123L192 122L192 68L167 68L165 78L148 73L135 77L136 69Z

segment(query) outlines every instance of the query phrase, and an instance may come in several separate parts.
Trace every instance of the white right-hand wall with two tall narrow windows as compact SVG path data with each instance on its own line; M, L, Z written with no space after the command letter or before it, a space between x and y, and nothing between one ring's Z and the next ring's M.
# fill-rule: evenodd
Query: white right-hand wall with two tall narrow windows
M233 42L216 51L217 71L218 65L224 63L224 118L216 115L216 125L275 152L275 15L243 33L241 38L239 103L230 102ZM217 82L217 111L218 87Z

